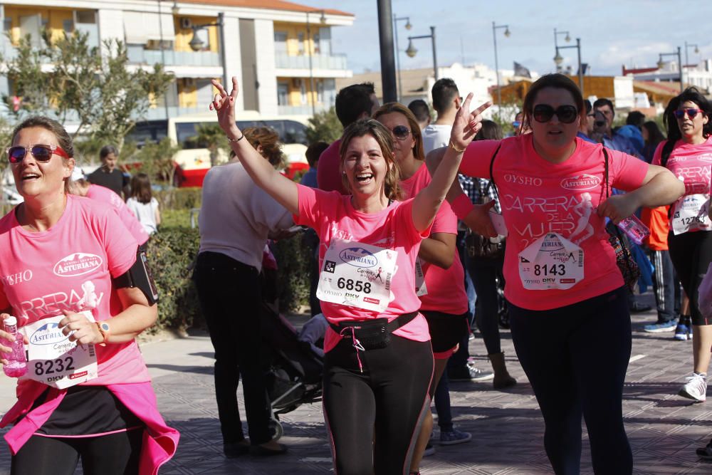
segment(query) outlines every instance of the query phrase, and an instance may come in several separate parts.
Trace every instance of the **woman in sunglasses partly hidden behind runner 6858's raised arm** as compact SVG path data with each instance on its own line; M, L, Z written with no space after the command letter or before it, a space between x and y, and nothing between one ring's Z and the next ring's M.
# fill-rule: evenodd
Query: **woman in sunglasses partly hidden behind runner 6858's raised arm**
M390 130L394 139L394 157L400 171L399 186L404 192L402 198L415 197L431 181L428 167L424 166L423 138L416 118L399 103L382 105L373 118ZM457 218L450 205L444 203L435 216L430 236L420 244L416 271L420 311L428 321L435 359L433 380L429 389L430 399L443 375L448 358L469 331L465 274L457 256L456 237ZM449 410L449 407L446 409ZM433 416L428 410L425 412L413 456L412 473L418 472L420 459L432 429ZM454 428L446 432L441 431L440 437L446 444L467 442L471 439L470 434Z

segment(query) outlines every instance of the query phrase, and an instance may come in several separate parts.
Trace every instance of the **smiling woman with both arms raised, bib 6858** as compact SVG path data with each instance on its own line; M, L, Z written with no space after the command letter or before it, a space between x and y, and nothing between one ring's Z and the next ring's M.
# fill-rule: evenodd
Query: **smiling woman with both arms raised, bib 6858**
M247 172L297 224L319 235L317 295L330 324L323 405L335 473L407 474L433 368L412 269L480 128L481 110L461 110L441 168L416 197L399 202L391 136L379 122L360 120L344 131L342 180L352 194L323 192L283 177L243 140L235 122L236 78L230 95L213 85L219 95L211 108Z

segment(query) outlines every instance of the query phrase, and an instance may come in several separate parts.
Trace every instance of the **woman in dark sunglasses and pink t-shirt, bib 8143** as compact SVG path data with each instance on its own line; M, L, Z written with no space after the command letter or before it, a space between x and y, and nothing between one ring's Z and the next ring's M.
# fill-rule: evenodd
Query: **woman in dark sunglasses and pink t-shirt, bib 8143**
M639 207L673 202L683 187L662 167L614 150L606 159L601 145L577 138L586 110L565 75L533 83L523 110L531 134L472 142L460 172L492 173L498 187L512 340L544 417L554 472L580 472L583 415L595 473L631 474L622 414L630 315L604 219L618 223ZM610 187L629 193L607 198L606 174ZM457 182L451 191L456 214L494 236L486 208L473 209Z

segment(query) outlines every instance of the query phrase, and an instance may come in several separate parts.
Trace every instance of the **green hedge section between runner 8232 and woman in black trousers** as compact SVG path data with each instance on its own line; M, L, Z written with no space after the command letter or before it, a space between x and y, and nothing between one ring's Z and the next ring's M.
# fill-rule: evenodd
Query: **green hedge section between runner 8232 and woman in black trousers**
M191 280L199 244L197 229L162 228L151 237L147 256L159 293L157 328L204 326Z

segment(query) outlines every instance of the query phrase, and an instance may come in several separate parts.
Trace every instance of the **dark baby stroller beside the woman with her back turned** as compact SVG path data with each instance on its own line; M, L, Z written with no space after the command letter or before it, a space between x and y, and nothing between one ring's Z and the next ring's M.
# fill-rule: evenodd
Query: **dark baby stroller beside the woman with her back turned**
M269 304L262 305L262 341L271 365L267 392L272 405L270 427L275 440L284 431L279 415L300 404L321 400L323 359L308 343L297 339L297 330Z

